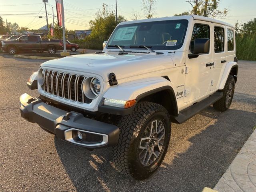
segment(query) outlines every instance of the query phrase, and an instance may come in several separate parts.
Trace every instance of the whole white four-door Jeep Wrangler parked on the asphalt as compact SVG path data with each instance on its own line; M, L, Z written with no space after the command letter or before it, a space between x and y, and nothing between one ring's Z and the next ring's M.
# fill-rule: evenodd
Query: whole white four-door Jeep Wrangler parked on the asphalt
M118 170L142 180L164 159L171 122L230 107L230 24L195 15L122 22L103 46L41 64L27 82L40 96L20 97L21 116L71 144L112 146Z

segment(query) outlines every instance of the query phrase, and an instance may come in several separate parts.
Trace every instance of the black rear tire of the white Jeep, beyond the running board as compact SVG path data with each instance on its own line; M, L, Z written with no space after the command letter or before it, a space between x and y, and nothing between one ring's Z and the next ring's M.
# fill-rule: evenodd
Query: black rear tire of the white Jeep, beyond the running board
M233 87L231 91L230 91L230 86ZM228 110L233 100L234 90L235 90L234 76L229 75L226 81L226 84L224 86L224 89L222 90L223 97L213 104L214 109L222 112ZM230 100L226 102L226 98L228 97L228 95L230 95L231 97L230 97Z

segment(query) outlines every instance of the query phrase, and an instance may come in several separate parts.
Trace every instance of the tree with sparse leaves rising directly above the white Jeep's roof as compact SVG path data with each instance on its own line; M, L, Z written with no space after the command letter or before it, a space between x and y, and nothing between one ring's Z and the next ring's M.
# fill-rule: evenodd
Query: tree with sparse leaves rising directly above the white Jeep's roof
M187 12L190 14L200 15L204 17L212 17L212 18L225 18L228 13L227 8L224 8L224 10L218 9L220 0L185 0L185 1L192 6L192 10L190 10L190 12Z

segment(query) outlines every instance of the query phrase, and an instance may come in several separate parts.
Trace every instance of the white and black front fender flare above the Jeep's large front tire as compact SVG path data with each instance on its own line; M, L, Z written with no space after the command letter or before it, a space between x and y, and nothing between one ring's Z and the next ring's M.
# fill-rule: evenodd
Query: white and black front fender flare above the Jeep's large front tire
M119 84L117 86L110 87L104 94L102 101L98 106L98 111L116 115L128 115L132 113L136 104L140 102L146 96L156 94L161 91L167 91L170 98L170 105L174 110L174 115L178 116L178 106L176 96L172 88L172 83L163 77L146 78L142 80L135 80ZM103 105L105 98L117 99L117 100L133 100L136 99L136 104L130 108L118 108L113 106Z

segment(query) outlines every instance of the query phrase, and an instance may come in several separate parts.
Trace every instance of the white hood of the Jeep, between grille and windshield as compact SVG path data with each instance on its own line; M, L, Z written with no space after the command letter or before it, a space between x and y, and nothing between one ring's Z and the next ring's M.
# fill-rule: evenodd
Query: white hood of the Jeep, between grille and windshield
M61 59L50 60L42 64L44 67L83 71L100 75L105 82L108 75L114 73L116 79L129 78L149 72L173 68L170 55L155 53L128 53L118 55L118 52L108 54L79 54Z

